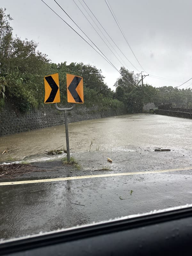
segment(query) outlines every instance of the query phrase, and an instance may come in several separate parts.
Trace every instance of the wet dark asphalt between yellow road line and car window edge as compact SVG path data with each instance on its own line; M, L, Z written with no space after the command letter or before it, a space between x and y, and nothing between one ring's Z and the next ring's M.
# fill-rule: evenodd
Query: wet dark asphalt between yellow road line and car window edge
M1 238L192 203L191 187L191 170L1 186Z

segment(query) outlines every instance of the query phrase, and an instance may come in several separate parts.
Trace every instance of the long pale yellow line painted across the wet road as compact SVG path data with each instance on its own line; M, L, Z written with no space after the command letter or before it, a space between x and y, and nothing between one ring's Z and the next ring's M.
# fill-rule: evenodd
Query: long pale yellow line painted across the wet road
M53 178L53 179L43 179L43 180L21 180L21 181L0 182L0 186L29 184L29 183L41 183L41 182L52 182L52 181L63 181L63 180L64 181L65 180L80 180L80 179L101 178L101 177L127 176L127 175L138 175L138 174L149 174L149 173L178 172L178 171L186 171L186 170L192 170L192 166L185 167L185 168L156 170L156 171L120 172L120 173L72 176L72 177L66 177L66 178Z

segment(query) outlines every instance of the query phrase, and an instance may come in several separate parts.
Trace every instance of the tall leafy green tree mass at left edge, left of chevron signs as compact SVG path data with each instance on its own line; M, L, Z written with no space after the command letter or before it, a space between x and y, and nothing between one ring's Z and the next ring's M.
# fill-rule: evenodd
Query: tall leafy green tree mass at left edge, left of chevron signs
M0 104L11 100L21 111L28 111L43 101L43 76L50 69L47 55L37 51L33 40L12 36L5 9L0 9Z

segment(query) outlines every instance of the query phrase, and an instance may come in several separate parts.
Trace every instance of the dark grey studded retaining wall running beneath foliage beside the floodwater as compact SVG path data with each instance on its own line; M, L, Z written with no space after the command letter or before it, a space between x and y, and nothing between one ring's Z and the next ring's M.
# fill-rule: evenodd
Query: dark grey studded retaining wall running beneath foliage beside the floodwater
M78 122L107 116L116 116L124 114L121 109L108 108L106 111L99 110L98 107L86 108L83 105L68 112L68 122ZM0 112L0 136L24 132L44 127L64 124L64 113L56 110L50 104L44 107L23 114L14 110L10 104L5 104L2 112Z

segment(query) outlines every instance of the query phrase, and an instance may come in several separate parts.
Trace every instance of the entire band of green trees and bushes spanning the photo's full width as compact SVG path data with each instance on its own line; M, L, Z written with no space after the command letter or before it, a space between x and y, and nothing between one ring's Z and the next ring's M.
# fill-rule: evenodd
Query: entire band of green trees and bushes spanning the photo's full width
M134 74L124 67L115 83L116 91L111 91L104 83L101 70L84 63L52 63L46 54L37 50L33 40L21 40L12 35L12 20L5 10L0 8L0 108L4 101L12 102L15 108L26 112L44 105L44 79L53 73L59 73L60 96L63 105L67 104L66 74L83 76L84 102L87 107L99 106L124 108L127 113L142 111L144 103L174 103L177 106L192 107L191 90L164 86L155 88L144 84L141 87L140 74Z

